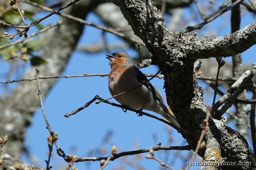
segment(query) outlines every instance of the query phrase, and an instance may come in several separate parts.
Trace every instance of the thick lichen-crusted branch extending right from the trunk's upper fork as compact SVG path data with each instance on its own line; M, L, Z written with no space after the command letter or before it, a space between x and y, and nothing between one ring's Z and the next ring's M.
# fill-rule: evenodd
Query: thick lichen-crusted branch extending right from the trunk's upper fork
M185 37L184 47L190 58L229 57L242 53L256 44L256 22L222 37Z

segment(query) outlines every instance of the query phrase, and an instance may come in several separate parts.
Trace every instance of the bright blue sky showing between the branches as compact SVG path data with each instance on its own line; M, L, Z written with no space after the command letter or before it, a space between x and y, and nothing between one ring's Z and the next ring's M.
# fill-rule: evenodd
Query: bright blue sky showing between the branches
M195 9L192 7L191 9ZM188 14L191 10L186 9L184 15ZM38 14L38 18L45 16L45 12ZM223 17L216 19L207 27L211 29L218 28L217 24L227 22L230 12L227 12ZM166 16L168 18L168 16ZM55 22L58 19L57 16L42 22L45 24L49 21ZM87 20L98 25L102 25L101 20L97 18L94 13L90 13ZM199 19L200 21L200 19ZM241 28L254 22L255 17L251 14L242 18ZM197 21L191 21L188 25L198 24ZM31 29L31 31L33 31ZM178 30L176 30L178 31ZM197 36L204 36L207 31L196 31ZM223 36L230 33L230 24L228 23L223 29L217 30L217 36ZM86 26L85 32L79 41L79 45L89 45L97 43L101 36L101 30L93 27ZM108 43L122 43L122 40L115 35L106 33ZM131 57L137 56L137 51L133 49L116 49L126 50ZM115 51L115 50L113 50ZM98 53L84 53L80 51L74 51L67 68L63 72L63 75L76 75L83 73L109 73L110 66L109 60L105 58L105 54L111 54L113 51L104 51ZM255 63L255 46L243 53L243 61L245 63ZM225 58L225 61L231 61L230 58ZM136 64L136 63L135 63ZM29 68L29 64L24 64L23 70ZM5 81L6 74L10 68L8 62L0 62L2 71L0 72L0 81ZM22 70L22 68L21 68ZM150 66L148 68L141 69L143 73L156 73L158 71L157 66ZM13 79L20 78L20 74L17 72L12 76ZM42 80L43 81L43 80ZM200 85L205 88L206 85L199 81ZM161 96L165 99L165 93L163 87L163 79L154 78L151 83L160 92ZM8 88L11 90L17 85L17 83L8 84ZM36 81L31 81L31 86L36 86ZM0 84L1 94L3 94L4 85ZM44 95L44 92L42 92ZM86 102L91 100L95 95L99 95L102 98L111 97L108 91L107 77L78 77L59 79L54 87L50 90L49 94L44 100L45 113L48 117L51 128L54 132L58 132L58 143L62 150L68 154L78 155L78 157L92 156L92 157L105 157L111 154L111 147L115 145L117 152L132 151L137 149L144 149L154 146L159 142L162 145L170 146L182 146L187 145L186 140L178 134L173 128L170 128L160 121L152 118L142 116L137 117L134 112L123 112L120 108L113 107L109 104L91 104L88 108L76 115L72 115L69 118L65 118L63 115L83 106ZM209 97L209 96L207 96ZM219 96L218 96L219 97ZM117 103L114 99L112 102ZM206 99L206 101L212 102L212 96ZM207 103L210 104L210 103ZM152 113L152 112L149 112ZM154 113L152 113L154 114ZM157 114L155 114L157 115ZM229 126L235 128L235 121L229 123ZM38 108L34 114L33 123L28 128L28 133L25 140L25 145L33 155L33 158L38 159L42 167L45 167L45 159L48 157L47 136L48 130L45 128L45 120L43 118L41 109ZM169 131L172 132L170 143ZM104 137L106 134L110 135L110 141L106 142ZM105 153L100 153L99 148L105 148ZM184 166L184 159L190 154L189 151L157 151L156 157L167 163L174 169L178 169ZM137 162L138 165L149 169L149 167L159 167L160 164L154 160L145 159L144 156L149 153L142 154L142 160ZM34 164L29 161L27 156L22 156L24 161ZM127 162L127 159L131 159L136 162L136 156L128 156L125 158L119 158L118 160L111 161L105 169L114 169L117 166ZM189 160L187 160L189 161ZM195 161L201 161L200 158L196 158ZM53 157L51 164L53 169L64 169L68 166L62 158L58 157L55 151L53 151ZM136 163L135 163L136 164ZM78 169L99 169L99 162L79 162L74 164ZM199 169L200 167L193 167ZM133 166L126 166L124 169L135 169ZM155 168L154 168L155 169ZM192 168L191 168L192 169Z

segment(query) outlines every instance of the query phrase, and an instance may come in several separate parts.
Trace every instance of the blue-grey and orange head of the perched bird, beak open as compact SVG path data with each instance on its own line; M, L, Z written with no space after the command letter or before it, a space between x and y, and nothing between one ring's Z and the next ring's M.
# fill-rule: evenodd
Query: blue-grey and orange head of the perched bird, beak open
M106 55L110 60L110 65L133 66L133 60L126 51L115 51L111 55Z

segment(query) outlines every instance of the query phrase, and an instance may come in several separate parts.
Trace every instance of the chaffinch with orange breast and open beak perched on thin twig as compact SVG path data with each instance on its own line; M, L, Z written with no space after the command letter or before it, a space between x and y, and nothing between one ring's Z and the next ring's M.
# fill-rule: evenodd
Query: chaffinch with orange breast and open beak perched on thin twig
M112 97L148 81L147 77L134 66L132 58L126 51L118 50L106 56L110 60L109 65L111 66L108 86ZM149 81L114 98L120 104L132 109L140 111L145 109L158 113L177 128L180 128L176 117L170 114L162 97Z

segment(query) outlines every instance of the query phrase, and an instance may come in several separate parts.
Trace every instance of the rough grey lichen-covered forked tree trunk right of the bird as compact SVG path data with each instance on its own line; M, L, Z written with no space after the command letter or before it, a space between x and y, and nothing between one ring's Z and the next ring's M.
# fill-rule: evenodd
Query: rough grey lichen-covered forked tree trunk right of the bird
M195 149L206 117L202 88L194 74L194 61L199 58L232 56L256 43L256 23L223 37L194 37L169 30L160 11L151 0L113 0L128 20L135 34L146 44L165 76L167 102L177 117L183 137ZM255 73L255 66L252 72ZM252 169L256 160L242 135L224 121L209 120L205 135L206 148L198 154L206 160L252 162L251 166L204 166L202 169Z

